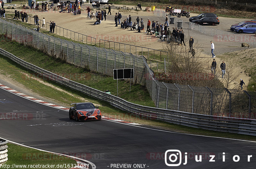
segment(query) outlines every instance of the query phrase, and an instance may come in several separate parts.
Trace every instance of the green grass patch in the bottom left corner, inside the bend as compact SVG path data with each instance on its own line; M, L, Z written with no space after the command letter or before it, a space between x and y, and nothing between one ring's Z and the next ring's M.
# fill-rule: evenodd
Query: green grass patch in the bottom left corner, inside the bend
M15 168L26 168L24 165L52 165L52 168L60 168L57 166L65 164L76 164L76 160L67 158L64 156L55 155L52 153L39 151L32 148L22 147L15 144L8 143L8 161L5 163L6 165L12 166L15 164ZM23 166L18 166L23 165ZM66 168L71 168L72 166L67 166ZM30 167L33 168L33 167ZM35 167L34 167L35 168ZM39 167L38 167L39 168ZM47 168L47 167L40 167ZM65 167L62 167L65 168Z

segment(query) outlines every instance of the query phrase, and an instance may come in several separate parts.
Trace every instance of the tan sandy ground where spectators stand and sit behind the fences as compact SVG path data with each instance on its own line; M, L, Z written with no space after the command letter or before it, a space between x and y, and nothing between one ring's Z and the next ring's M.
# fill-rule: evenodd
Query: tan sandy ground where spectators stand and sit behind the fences
M85 9L87 6L91 6L91 5L83 4L82 8ZM72 31L79 32L85 35L89 35L97 39L105 39L105 40L110 40L110 41L115 41L120 43L132 44L136 46L144 46L144 47L153 48L153 49L163 49L163 45L165 45L164 42L158 41L158 39L155 36L147 35L147 33L145 32L138 33L137 31L130 31L130 29L126 29L126 30L121 29L120 26L115 27L114 14L118 11L121 12L122 14L121 21L126 19L126 16L131 15L133 22L136 20L138 16L139 18L143 18L144 24L147 23L147 18L149 18L151 21L155 20L160 23L164 23L164 18L153 16L153 12L151 11L145 12L145 11L134 11L134 10L130 11L130 10L112 9L111 10L112 15L107 15L107 20L102 21L102 24L100 25L93 25L95 20L86 18L87 11L85 10L82 11L81 15L76 15L76 16L72 15L72 13L60 13L59 11L52 11L52 10L48 12L34 11L34 10L22 10L22 11L26 11L28 14L32 16L38 15L39 19L45 18L46 22L50 22L50 20L54 20L56 22L56 25L58 26L61 26L66 29L70 29ZM95 11L96 9L93 9L93 12ZM191 16L196 16L196 15L197 14L191 13ZM181 17L180 19L183 19L184 21L188 20L188 18L185 18L185 17ZM219 19L220 19L220 25L209 26L209 27L220 29L222 31L229 31L231 24L235 24L243 20L247 20L247 19L241 19L241 18L223 18L223 17L220 17ZM251 20L251 19L248 19L248 20ZM175 26L170 25L171 29L172 27L175 27ZM217 61L218 65L222 62L218 56L227 52L235 52L235 51L240 51L244 49L240 47L241 43L239 42L223 41L222 39L218 39L210 35L205 35L197 31L184 29L184 34L185 34L185 43L187 44L187 47L188 47L188 39L190 36L194 38L195 43L199 44L199 47L197 50L202 51L200 58L205 60L206 65L207 63L209 64L212 62L211 43L210 43L211 40L215 44L214 53L216 55L215 60ZM184 47L184 46L180 46L180 47ZM232 60L228 59L228 61L226 61L226 64L228 65L229 62L232 62ZM241 67L237 65L236 69L237 69L236 71L240 71ZM241 76L238 79L240 78L244 79L245 83L247 84L250 79L250 77L246 76L244 72L241 74Z

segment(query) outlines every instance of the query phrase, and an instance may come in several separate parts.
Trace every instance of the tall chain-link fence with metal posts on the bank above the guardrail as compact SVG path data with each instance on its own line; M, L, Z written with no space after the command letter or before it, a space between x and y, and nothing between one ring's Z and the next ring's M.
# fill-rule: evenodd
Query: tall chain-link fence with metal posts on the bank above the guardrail
M143 56L73 43L2 19L0 19L0 33L19 43L65 60L67 63L86 67L102 74L112 76L113 69L134 68L133 82L146 86L157 108L256 119L256 92L159 82Z

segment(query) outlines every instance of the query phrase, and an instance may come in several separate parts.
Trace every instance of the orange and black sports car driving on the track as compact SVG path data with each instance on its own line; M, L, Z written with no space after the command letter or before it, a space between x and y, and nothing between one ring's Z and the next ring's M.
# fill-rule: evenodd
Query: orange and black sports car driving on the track
M98 106L92 103L72 103L69 109L69 119L76 119L76 121L84 120L100 120L101 112Z

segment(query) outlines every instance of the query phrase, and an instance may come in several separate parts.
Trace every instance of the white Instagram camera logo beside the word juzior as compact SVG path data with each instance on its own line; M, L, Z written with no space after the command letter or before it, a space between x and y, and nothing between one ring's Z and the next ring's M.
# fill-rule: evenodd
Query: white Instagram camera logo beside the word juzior
M177 163L179 160L179 163ZM167 166L179 166L181 164L180 150L167 150L164 154L164 162Z

